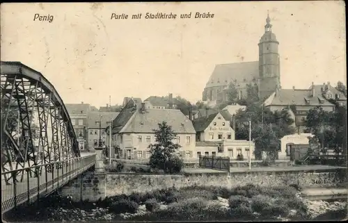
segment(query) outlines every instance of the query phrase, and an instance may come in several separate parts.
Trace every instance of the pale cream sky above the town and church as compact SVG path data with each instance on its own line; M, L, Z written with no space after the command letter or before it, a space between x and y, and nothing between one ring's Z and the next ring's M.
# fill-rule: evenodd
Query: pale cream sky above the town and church
M267 10L280 42L282 88L347 83L343 1L2 3L1 60L41 72L65 104L169 93L196 102L215 65L258 60ZM214 18L195 19L197 12ZM36 13L54 19L33 21Z

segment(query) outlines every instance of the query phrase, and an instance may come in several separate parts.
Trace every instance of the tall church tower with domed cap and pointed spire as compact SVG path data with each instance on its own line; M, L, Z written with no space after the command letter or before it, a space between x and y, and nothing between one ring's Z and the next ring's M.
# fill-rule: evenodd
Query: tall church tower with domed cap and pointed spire
M277 88L280 89L280 58L278 54L279 42L272 33L271 19L267 13L264 35L259 42L259 99L269 97Z

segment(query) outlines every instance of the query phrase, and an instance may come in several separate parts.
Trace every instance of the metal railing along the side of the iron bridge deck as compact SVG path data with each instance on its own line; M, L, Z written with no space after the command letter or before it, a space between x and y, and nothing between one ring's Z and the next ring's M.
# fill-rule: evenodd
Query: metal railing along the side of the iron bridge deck
M1 172L1 210L46 195L95 164L95 154ZM9 179L6 181L6 179Z

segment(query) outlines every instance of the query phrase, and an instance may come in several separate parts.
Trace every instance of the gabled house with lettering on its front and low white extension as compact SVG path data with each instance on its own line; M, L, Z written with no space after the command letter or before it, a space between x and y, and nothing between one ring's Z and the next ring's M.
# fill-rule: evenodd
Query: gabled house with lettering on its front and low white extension
M227 111L223 113L229 115ZM249 151L251 158L255 158L254 143L235 140L235 130L230 126L230 119L221 112L195 119L193 126L196 130L196 158L202 155L229 156L230 159L235 159L238 154L242 154L246 159Z

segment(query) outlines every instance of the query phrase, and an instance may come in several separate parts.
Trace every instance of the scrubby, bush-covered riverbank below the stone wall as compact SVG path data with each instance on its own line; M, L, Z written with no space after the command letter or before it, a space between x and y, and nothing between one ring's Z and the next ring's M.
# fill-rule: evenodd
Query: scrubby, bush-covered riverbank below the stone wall
M308 201L293 187L248 184L235 188L167 188L83 203L73 203L56 194L42 199L39 208L33 204L13 212L8 221L297 221L313 220L328 211L339 210L347 213L347 202Z

